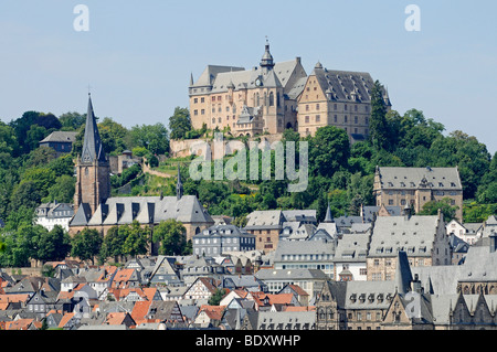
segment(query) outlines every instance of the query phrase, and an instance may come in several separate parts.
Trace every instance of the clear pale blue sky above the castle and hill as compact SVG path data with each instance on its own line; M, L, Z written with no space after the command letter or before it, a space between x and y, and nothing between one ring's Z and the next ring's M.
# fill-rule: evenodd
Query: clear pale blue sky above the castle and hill
M76 32L76 4L89 31ZM421 31L408 32L408 4ZM97 116L126 127L168 125L188 106L190 73L205 65L251 68L264 52L300 56L310 73L369 72L393 108L410 108L497 151L496 1L117 1L0 2L0 119L27 110L84 113L88 85Z

